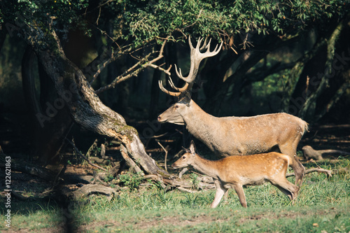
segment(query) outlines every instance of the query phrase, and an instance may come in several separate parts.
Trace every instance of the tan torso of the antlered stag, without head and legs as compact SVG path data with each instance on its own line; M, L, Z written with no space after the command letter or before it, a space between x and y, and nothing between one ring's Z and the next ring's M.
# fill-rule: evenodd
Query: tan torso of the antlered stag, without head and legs
M307 130L307 122L287 113L209 119L188 129L221 156L280 151L281 144L298 143Z

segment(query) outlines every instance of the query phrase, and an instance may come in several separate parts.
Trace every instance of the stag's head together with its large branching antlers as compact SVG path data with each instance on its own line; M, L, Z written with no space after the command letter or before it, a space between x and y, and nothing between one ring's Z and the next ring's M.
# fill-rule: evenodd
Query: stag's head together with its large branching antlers
M158 116L158 121L161 123L164 122L170 122L176 125L185 125L185 122L183 120L183 115L188 112L188 108L191 106L191 97L190 97L190 90L193 87L193 83L195 82L195 78L198 73L198 69L200 68L200 62L202 62L202 59L207 57L213 57L220 52L221 47L223 46L223 42L221 42L220 46L216 45L216 48L210 52L210 42L207 43L207 39L204 40L203 45L201 46L202 39L197 42L196 48L193 48L193 45L190 41L190 36L188 37L188 43L190 44L190 72L188 73L187 77L183 77L181 73L181 69L177 69L175 65L175 71L176 75L184 80L186 83L183 87L176 87L172 81L172 78L169 77L169 84L170 86L176 90L176 92L170 92L169 90L165 89L165 87L162 85L162 81L159 81L159 87L162 92L165 92L173 97L179 97L180 100L176 102L176 104L172 105L170 108L167 109L164 113L160 114ZM204 51L204 52L201 52Z

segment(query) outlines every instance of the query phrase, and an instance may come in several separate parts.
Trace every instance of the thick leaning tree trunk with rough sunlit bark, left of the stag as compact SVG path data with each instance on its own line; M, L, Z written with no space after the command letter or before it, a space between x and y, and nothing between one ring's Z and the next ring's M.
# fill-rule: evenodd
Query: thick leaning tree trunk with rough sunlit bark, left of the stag
M27 42L32 45L46 73L55 83L59 97L55 102L64 104L73 120L81 127L119 141L134 160L134 166L141 166L148 174L167 175L146 153L137 130L126 124L124 118L105 106L90 86L83 72L66 58L55 31L51 31L50 46L43 46L40 31L27 27L31 36ZM45 118L49 118L45 116Z

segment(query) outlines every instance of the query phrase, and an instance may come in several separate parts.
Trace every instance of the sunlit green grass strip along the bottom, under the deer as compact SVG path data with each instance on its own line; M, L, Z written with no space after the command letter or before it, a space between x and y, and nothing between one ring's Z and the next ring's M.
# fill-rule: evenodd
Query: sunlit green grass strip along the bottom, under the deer
M270 184L244 188L248 209L241 207L234 190L218 208L209 209L215 190L165 192L148 183L142 190L118 192L111 202L101 196L88 197L72 202L68 209L43 203L24 211L32 202L14 203L11 230L64 232L64 227L71 227L73 232L349 232L349 164L346 159L336 164L319 163L338 173L332 178L307 174L293 206ZM288 179L293 182L293 178ZM0 226L3 229L4 224Z

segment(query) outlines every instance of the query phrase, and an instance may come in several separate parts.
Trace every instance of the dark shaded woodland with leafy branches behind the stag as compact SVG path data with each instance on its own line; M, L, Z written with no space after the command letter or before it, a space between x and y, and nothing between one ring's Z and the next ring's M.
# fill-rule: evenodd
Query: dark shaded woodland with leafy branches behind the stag
M157 121L176 101L160 92L158 80L167 83L165 70L172 65L172 79L183 84L174 64L188 71L188 36L193 45L200 36L212 38L211 48L224 42L218 55L202 62L193 87L192 98L207 113L287 112L310 127L350 123L348 1L62 0L0 6L0 146L8 154L48 164L73 151L66 139L84 154L98 139L99 145L124 145L132 157L134 149L123 138L129 134L113 122L120 116L121 125L137 129L133 135L146 149L159 147L157 136L165 133L160 139L173 143L173 153L188 146L184 127ZM80 93L64 99L74 85ZM97 95L89 99L86 93L92 92ZM102 103L114 113L99 112ZM89 125L90 113L77 111L80 106L112 122L116 134Z

